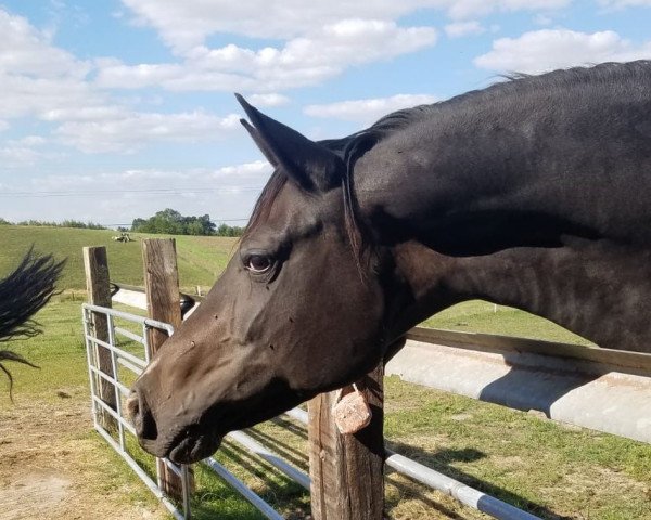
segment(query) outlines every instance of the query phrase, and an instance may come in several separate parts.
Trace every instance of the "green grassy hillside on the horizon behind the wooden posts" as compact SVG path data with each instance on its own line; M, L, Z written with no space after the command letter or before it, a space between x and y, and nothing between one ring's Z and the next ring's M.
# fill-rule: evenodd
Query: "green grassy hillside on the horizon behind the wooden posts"
M86 288L81 249L85 246L106 246L111 280L142 285L141 240L164 235L131 233L135 242L112 239L118 233L111 230L72 227L36 227L0 225L0 276L16 266L25 251L34 245L38 252L51 252L58 259L67 258L62 289ZM218 236L175 236L181 287L210 286L234 251L235 238Z

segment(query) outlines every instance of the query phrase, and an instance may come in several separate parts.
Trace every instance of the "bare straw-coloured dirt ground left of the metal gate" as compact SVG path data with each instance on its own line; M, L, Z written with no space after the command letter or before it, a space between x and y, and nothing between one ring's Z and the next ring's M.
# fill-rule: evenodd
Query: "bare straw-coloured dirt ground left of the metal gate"
M100 448L90 405L77 392L0 403L0 520L169 518L115 468L117 455Z

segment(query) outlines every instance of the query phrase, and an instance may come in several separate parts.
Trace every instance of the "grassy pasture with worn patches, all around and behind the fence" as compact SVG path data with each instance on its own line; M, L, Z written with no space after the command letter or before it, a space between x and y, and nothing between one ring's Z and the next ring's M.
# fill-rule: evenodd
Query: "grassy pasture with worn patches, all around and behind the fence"
M69 258L62 282L62 288L68 290L37 316L44 334L12 344L40 369L12 368L14 403L5 391L0 392L0 506L2 515L12 508L17 511L8 518L37 514L39 518L167 518L129 468L91 430L80 332L81 246L106 245L113 280L141 283L140 244L115 244L111 234L0 226L0 240L9 251L2 257L0 274L15 264L31 243L39 250ZM177 237L181 285L209 285L232 247L232 239ZM426 325L583 341L547 321L480 301L445 311ZM397 378L387 378L385 391L385 435L393 450L544 518L651 518L649 445ZM254 434L284 444L292 459L303 469L307 467L305 439L290 439L272 424L256 427ZM243 457L233 446L227 444L221 452L218 459L231 469L235 466L227 455L239 459L246 469L235 472L288 518L306 517L308 497L302 489ZM485 518L391 471L386 484L391 518ZM25 499L37 490L41 493L38 500ZM196 497L203 504L195 509L196 518L261 518L203 471L197 472ZM36 509L26 509L29 502Z

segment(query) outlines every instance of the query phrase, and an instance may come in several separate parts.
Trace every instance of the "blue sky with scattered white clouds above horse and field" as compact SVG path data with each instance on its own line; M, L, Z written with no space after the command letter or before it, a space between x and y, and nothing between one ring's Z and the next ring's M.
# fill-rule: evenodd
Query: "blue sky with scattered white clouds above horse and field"
M243 224L270 173L233 92L312 139L651 58L651 0L0 0L0 218Z

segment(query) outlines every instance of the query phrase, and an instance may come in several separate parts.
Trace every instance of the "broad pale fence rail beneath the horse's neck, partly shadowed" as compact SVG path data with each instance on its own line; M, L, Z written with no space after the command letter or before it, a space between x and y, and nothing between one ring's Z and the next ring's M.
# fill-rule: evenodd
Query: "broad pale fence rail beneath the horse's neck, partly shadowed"
M650 354L416 328L386 374L651 442Z

